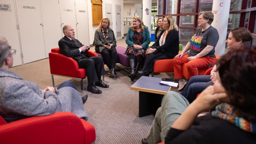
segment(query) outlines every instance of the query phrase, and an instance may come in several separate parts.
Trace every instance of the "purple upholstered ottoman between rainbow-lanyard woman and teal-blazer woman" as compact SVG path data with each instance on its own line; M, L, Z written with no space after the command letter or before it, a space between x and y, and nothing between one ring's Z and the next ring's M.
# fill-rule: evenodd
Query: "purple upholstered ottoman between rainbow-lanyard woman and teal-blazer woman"
M125 51L126 51L126 48L125 47L122 47L122 46L117 46L116 47L116 51L117 51L117 59L116 59L116 63L119 63L125 67L129 67L129 63L128 63L128 56L125 55ZM95 52L96 53L96 52ZM101 54L97 53L98 56L101 56Z

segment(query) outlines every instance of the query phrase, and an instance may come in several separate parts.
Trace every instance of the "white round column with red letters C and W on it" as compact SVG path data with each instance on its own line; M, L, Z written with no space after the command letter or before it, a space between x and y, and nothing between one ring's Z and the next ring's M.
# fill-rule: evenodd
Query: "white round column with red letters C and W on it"
M228 29L230 0L213 0L212 13L214 19L212 26L218 30L219 41L215 47L215 54L223 56Z

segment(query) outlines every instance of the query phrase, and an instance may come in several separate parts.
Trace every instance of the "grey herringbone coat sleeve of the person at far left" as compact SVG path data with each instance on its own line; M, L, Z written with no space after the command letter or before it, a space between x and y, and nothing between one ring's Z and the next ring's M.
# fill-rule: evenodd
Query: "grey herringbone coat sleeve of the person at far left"
M24 116L44 116L53 114L58 106L55 92L46 91L43 94L41 91L40 95L24 83L11 84L7 88L4 90L2 105L13 113Z

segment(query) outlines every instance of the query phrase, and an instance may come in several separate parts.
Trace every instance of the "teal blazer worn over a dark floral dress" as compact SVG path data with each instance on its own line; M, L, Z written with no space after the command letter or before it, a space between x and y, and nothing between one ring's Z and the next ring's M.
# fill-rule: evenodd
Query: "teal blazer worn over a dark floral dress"
M127 48L129 46L133 46L134 43L133 43L133 34L134 34L134 31L131 30L131 28L129 27L128 29L128 32L127 32L127 37L126 37L126 44L128 45ZM141 45L145 50L148 49L148 45L150 44L150 33L149 33L149 30L148 30L148 27L146 26L146 29L142 32L143 34L143 44Z

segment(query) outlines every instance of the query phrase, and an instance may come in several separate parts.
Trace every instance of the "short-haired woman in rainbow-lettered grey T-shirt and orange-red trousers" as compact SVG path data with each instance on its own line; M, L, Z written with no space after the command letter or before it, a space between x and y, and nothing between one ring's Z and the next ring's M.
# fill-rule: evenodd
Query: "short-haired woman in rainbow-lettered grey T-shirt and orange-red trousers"
M182 52L173 59L174 78L179 79L179 88L182 90L187 80L183 79L182 64L187 63L190 76L198 75L198 68L207 68L210 64L217 63L215 56L215 46L219 40L219 34L216 28L211 26L213 22L213 13L211 11L201 12L198 18L198 26L194 34L182 50ZM186 54L189 50L189 54Z

